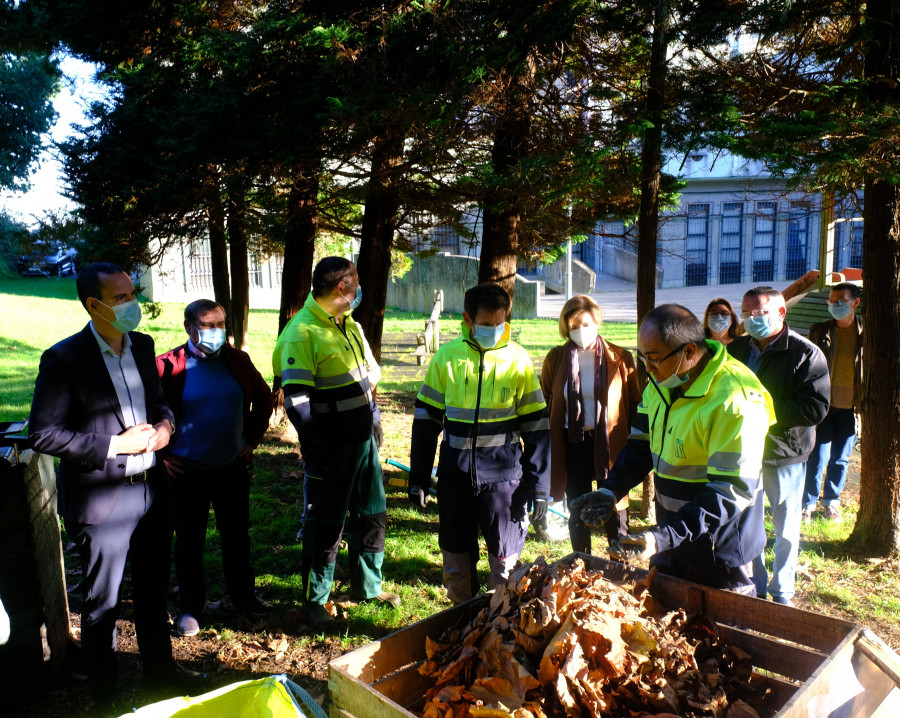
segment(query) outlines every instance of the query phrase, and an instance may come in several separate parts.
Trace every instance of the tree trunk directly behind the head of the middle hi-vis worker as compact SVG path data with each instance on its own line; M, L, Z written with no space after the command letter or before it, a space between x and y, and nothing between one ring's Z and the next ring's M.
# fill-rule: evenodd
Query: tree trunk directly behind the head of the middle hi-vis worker
M531 120L528 108L519 93L514 93L508 102L494 130L491 168L501 184L494 187L485 199L478 281L496 282L512 299L516 288L522 202L514 190L504 191L502 183L506 181L510 170L525 156ZM512 307L510 307L511 314Z

